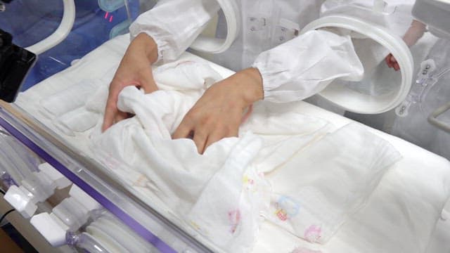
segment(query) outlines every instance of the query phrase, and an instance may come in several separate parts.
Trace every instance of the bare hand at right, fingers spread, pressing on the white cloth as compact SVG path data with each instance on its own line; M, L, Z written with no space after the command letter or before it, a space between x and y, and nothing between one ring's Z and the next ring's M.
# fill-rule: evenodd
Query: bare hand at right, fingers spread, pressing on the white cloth
M248 68L210 86L188 111L172 138L193 138L198 153L221 138L238 136L245 108L264 96L262 77Z

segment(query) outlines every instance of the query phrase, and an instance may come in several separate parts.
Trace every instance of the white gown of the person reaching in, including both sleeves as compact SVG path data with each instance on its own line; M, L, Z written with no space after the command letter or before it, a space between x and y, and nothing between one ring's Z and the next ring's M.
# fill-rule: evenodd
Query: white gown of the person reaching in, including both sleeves
M315 31L295 38L304 25L319 17L322 3L236 1L242 21L239 36L215 61L233 70L257 67L262 74L264 99L272 102L302 100L335 78L360 77L362 66L349 38ZM216 1L162 0L131 25L131 39L145 32L158 44L158 60L175 60L217 11ZM219 18L217 37L226 33L223 21Z

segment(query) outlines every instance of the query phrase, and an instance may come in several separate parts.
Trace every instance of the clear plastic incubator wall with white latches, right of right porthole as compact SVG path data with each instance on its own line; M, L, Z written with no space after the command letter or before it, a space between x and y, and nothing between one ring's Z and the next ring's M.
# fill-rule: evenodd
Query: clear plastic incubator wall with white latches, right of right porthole
M413 21L399 35L413 56L413 79L408 95L397 108L370 116L345 114L447 159L450 159L449 11L450 2L444 0L418 0L411 8L409 15ZM386 67L387 63L383 65ZM391 68L390 72L396 71Z

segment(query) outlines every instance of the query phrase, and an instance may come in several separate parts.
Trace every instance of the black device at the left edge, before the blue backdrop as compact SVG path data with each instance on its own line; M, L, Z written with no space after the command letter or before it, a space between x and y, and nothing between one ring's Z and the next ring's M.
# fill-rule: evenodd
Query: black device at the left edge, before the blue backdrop
M0 29L0 99L12 103L37 56L13 44L13 37Z

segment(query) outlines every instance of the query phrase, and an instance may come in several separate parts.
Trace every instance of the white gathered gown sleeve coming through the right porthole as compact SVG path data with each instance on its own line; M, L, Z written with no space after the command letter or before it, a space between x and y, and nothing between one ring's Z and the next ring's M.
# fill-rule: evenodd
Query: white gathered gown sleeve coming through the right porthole
M324 30L306 32L256 58L264 100L283 103L319 93L334 79L357 81L364 68L352 39Z

